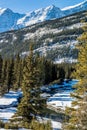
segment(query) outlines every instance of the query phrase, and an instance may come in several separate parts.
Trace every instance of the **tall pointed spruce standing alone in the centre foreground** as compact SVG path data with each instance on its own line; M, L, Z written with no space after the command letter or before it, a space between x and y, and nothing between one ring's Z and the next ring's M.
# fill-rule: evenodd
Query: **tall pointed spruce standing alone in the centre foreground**
M23 98L17 111L17 115L22 117L21 124L26 128L29 128L33 116L40 114L40 110L43 109L44 101L40 98L40 85L40 69L37 67L31 47L23 70Z

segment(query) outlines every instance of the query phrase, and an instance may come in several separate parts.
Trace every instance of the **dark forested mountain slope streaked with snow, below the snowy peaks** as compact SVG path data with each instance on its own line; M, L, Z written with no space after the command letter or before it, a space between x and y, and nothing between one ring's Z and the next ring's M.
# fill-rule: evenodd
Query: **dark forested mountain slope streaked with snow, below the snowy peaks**
M87 21L87 11L60 19L40 22L19 30L0 33L0 54L3 57L29 52L29 44L34 42L34 52L57 62L75 61L78 51L75 49L77 37Z

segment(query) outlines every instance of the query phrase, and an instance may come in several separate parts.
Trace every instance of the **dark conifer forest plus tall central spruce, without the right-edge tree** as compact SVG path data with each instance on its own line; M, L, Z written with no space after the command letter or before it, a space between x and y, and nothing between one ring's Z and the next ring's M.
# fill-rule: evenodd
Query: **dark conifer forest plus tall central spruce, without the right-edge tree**
M9 129L24 127L36 130L37 126L37 130L40 127L41 130L51 130L50 122L47 124L35 122L36 116L46 114L45 110L47 109L46 99L40 97L42 93L40 87L61 83L65 78L70 79L75 70L75 64L54 64L45 57L35 55L32 45L29 52L29 56L25 58L21 58L19 55L9 59L0 57L0 95L3 96L10 90L21 89L23 92L23 97L11 124L5 124L4 127Z

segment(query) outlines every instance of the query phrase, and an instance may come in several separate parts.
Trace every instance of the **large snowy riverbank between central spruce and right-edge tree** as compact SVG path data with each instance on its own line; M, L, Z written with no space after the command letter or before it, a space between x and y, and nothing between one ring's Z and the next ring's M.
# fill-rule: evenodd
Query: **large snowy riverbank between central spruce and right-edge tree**
M77 82L78 80L64 81L62 85L54 85L54 88L56 88L58 92L48 98L47 105L63 110L65 110L66 107L71 107L73 99L70 97L70 93L74 91L72 86ZM53 88L53 86L50 86L50 88Z

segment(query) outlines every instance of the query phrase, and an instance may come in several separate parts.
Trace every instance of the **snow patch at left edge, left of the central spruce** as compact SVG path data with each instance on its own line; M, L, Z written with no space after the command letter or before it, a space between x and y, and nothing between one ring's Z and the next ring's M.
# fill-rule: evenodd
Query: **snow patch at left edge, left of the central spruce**
M11 117L16 112L16 107L18 105L18 98L22 96L22 92L13 92L5 94L3 97L0 97L0 120L4 122L11 119Z

